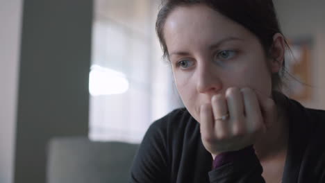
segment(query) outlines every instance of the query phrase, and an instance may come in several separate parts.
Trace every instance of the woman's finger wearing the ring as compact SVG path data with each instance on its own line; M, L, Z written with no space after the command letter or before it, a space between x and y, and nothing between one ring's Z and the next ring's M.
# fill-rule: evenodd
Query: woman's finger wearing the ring
M226 98L222 94L213 96L211 100L214 119L220 118L228 114L228 106ZM215 134L218 139L226 137L229 128L228 120L215 120Z

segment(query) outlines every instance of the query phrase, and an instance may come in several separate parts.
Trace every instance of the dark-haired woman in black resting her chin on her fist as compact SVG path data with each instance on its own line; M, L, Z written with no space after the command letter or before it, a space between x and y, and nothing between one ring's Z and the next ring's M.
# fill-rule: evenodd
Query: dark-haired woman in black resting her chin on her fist
M156 30L185 109L151 125L131 182L325 182L325 112L280 92L272 0L169 0Z

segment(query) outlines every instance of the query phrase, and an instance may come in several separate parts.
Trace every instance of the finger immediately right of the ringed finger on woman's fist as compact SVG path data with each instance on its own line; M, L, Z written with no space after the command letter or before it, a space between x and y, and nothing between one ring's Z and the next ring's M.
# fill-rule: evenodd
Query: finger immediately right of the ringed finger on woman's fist
M244 103L242 93L236 87L228 88L226 100L231 119L231 131L234 135L244 134L246 125L244 123Z

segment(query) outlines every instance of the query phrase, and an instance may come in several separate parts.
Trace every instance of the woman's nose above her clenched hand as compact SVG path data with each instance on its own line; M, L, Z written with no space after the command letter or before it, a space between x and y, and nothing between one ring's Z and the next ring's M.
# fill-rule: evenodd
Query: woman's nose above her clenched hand
M197 91L202 94L217 94L222 89L222 80L218 76L216 68L209 64L199 67L197 74Z

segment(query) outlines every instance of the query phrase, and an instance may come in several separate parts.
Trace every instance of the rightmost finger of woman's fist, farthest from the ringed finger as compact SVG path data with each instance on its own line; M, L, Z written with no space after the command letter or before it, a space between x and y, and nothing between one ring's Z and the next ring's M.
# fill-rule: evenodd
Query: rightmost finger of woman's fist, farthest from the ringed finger
M256 93L251 88L240 89L244 98L244 110L246 111L247 131L255 132L262 128L265 130L263 116L258 103Z

